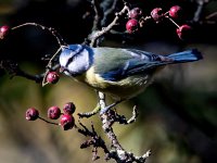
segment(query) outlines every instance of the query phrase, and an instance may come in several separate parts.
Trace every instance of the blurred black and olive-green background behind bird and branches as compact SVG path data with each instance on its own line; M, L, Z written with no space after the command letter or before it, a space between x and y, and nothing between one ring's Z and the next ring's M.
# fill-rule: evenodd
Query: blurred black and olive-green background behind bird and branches
M149 9L168 9L176 3L189 2L135 1L137 5ZM187 15L189 18L195 8L193 4L186 8L191 8ZM210 1L203 14L216 11L216 1ZM0 24L14 26L36 22L56 28L67 42L78 43L91 29L92 17L82 18L89 12L90 3L85 0L1 0ZM130 117L131 108L138 105L138 121L129 126L115 125L114 130L124 148L136 154L141 155L151 149L153 154L148 163L217 162L217 46L212 40L216 40L215 27L195 27L196 39L191 43L178 40L174 26L167 23L148 25L142 35L126 40L125 45L116 37L108 37L103 42L104 46L156 53L197 48L204 54L204 60L196 63L167 66L146 91L118 106L119 113ZM39 73L44 66L40 58L53 53L56 47L55 40L47 33L25 28L0 42L0 58L16 60L27 72ZM79 149L87 138L75 130L63 131L40 121L26 122L25 111L35 106L41 116L46 116L48 106L63 106L68 101L75 102L76 112L90 111L97 101L94 91L64 76L56 85L42 88L25 78L10 79L8 74L3 74L0 76L0 163L91 162L91 149ZM81 121L87 126L92 121L104 137L98 116Z

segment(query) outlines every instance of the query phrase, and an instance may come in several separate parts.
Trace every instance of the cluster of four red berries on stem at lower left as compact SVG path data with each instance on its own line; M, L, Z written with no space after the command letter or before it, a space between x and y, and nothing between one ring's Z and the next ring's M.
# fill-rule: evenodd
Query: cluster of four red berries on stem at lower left
M42 120L47 123L60 125L64 130L72 129L75 126L75 118L73 116L73 113L75 112L75 104L73 102L67 102L63 106L63 113L61 112L61 109L56 105L50 106L48 109L48 118L50 120L58 120L60 118L60 123L52 123L49 122L42 117L39 116L39 111L35 108L29 108L26 111L26 120L27 121L36 121L37 118Z

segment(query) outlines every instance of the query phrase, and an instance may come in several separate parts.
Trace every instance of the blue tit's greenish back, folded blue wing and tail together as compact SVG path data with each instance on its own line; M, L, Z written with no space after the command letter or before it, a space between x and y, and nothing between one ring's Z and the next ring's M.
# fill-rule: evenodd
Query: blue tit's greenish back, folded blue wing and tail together
M111 82L131 75L152 73L162 65L202 59L196 50L159 55L133 49L95 48L94 55L95 73Z

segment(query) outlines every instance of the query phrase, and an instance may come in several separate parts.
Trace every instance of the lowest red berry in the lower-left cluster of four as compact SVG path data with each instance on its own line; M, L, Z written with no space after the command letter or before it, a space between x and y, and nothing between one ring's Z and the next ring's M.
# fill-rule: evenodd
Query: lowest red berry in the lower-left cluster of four
M63 114L61 115L61 126L64 130L72 129L75 125L75 120L69 114Z

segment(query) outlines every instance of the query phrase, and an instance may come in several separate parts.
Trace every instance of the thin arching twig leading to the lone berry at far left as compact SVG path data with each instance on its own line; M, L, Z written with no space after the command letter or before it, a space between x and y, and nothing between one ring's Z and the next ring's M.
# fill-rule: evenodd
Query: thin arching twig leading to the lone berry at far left
M54 37L55 39L58 40L58 43L60 46L66 46L67 43L63 40L62 36L54 29L54 28L51 28L51 27L47 27L47 26L43 26L41 24L37 24L37 23L24 23L24 24L21 24L21 25L17 25L17 26L14 26L12 27L12 30L14 29L17 29L17 28L21 28L23 26L37 26L37 27L40 27L41 29L47 29L48 32L50 32Z

